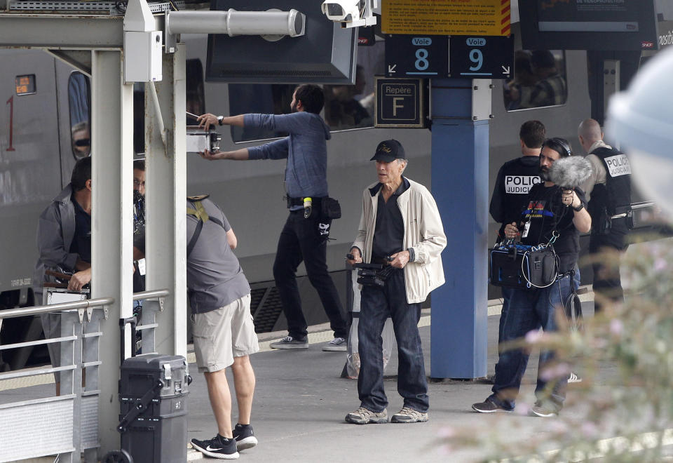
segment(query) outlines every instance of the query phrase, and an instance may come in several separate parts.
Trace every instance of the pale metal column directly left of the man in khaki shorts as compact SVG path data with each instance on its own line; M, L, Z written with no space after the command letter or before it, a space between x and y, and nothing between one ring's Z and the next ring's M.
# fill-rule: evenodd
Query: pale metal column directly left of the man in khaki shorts
M156 93L166 131L161 140L155 106L145 91L145 161L147 172L147 289L168 288L163 312L157 314L155 350L186 356L186 116L185 47L163 55L163 80ZM147 85L147 84L146 84Z

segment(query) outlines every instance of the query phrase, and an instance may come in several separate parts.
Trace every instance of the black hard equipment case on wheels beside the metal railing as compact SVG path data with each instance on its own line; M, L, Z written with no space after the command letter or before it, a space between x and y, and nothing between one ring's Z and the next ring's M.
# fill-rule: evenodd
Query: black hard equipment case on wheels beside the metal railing
M186 462L189 382L183 356L144 354L123 361L118 431L132 462Z

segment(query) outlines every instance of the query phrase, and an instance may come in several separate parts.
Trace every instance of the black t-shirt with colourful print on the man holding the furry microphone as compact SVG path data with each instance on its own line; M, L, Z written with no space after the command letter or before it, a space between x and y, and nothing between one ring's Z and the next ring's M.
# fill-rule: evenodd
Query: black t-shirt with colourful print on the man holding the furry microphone
M575 192L586 207L584 192L579 188ZM528 199L529 204L522 213L522 225L519 226L522 243L530 246L546 244L556 230L559 236L554 249L561 261L559 272L573 269L580 252L580 232L573 224L573 208L562 203L561 187L545 187L544 183L538 183L531 187ZM528 222L529 225L526 225Z

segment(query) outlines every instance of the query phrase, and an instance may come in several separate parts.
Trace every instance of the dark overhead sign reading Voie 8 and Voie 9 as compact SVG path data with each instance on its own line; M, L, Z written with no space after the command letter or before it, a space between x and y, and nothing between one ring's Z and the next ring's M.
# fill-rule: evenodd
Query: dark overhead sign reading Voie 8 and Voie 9
M386 36L386 76L509 79L514 38L497 36Z

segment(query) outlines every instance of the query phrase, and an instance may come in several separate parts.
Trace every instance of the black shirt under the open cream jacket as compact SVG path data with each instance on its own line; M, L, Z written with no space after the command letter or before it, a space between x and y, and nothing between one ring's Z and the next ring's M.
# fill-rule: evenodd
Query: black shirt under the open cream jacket
M402 177L402 184L395 190L395 193L390 195L388 202L383 201L383 194L379 191L372 257L381 259L402 250L405 239L405 222L402 220L400 206L397 206L397 198L408 188L409 181Z

